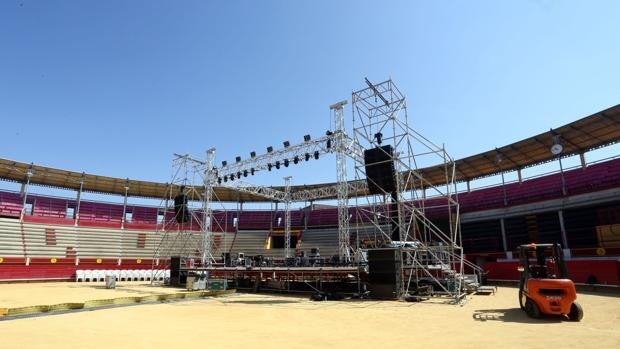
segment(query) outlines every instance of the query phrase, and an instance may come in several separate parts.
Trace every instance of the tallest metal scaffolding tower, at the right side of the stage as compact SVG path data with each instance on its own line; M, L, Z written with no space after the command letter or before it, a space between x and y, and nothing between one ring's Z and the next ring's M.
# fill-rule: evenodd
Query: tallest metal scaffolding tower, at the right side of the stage
M368 176L368 159L357 159L356 179L366 180L380 192L365 198L356 197L361 220L374 226L374 247L391 245L403 250L400 294L413 292L419 278L430 278L453 299L463 296L463 250L460 246L459 206L455 200L454 161L444 147L439 147L413 130L408 123L405 96L391 80L378 84L366 79L367 87L352 94L355 141L372 149L393 164L391 187L383 179ZM445 183L433 185L417 171L420 167L438 166L445 173ZM374 182L377 181L377 182ZM429 193L432 207L426 207ZM364 201L364 202L361 202ZM427 217L427 212L444 212L447 221ZM358 237L359 238L359 237ZM364 238L364 237L362 237Z

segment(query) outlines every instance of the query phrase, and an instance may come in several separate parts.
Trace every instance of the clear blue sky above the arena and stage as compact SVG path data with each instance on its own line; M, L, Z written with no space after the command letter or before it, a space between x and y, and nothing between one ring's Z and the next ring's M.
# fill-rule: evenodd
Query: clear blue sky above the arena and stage
M323 135L330 104L392 77L460 158L620 103L619 62L618 1L3 0L0 157L168 181L174 152Z

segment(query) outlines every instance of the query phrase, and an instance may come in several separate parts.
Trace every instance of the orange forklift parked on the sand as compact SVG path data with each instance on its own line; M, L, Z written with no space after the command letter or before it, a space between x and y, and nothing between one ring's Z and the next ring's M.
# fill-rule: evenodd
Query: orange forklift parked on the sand
M527 315L562 315L581 321L583 309L568 278L560 244L519 246L519 305Z

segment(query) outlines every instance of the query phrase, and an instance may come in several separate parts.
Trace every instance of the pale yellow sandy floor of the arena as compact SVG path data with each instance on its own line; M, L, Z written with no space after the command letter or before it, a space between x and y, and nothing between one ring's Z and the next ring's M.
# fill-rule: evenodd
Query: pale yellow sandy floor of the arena
M0 285L0 307L175 291ZM463 306L231 294L0 321L0 348L620 348L620 297L582 293L579 301L585 316L573 323L528 318L507 287Z

